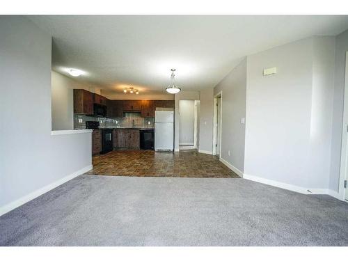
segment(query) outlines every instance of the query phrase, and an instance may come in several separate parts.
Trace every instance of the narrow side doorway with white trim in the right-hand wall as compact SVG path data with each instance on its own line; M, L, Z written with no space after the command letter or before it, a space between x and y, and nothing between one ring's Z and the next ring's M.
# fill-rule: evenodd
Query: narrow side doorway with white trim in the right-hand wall
M214 96L213 155L221 157L222 92Z

